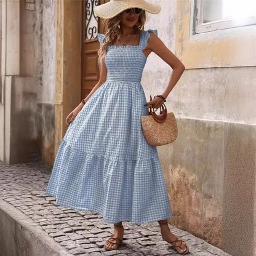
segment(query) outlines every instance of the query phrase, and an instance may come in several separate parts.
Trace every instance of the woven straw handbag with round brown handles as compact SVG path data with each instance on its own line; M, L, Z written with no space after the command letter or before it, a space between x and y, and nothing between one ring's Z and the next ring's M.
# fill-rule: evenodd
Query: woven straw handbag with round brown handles
M152 97L150 95L150 101ZM178 135L177 122L173 112L167 113L166 105L160 106L160 114L148 105L148 115L141 117L142 131L151 146L166 145L176 140Z

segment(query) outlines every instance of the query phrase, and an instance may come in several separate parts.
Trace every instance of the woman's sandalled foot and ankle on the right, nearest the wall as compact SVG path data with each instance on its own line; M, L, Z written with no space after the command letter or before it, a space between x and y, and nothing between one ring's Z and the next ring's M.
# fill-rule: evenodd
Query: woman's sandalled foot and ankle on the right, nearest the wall
M159 220L158 223L161 227L161 235L164 241L169 242L177 250L178 254L187 254L189 252L188 245L170 232L167 220Z

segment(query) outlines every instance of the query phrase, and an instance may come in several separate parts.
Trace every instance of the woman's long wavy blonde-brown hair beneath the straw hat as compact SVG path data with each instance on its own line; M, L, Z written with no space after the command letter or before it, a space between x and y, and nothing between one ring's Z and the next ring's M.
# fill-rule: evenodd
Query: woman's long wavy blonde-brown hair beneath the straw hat
M146 12L142 10L138 17L138 22L134 25L135 33L140 34L141 31L144 30L144 25L146 22ZM105 58L106 49L108 46L111 46L116 39L119 39L122 33L122 23L121 23L121 15L118 14L113 18L106 18L103 20L103 27L105 28L105 36L103 38L102 46L98 49L98 66L101 68L102 58ZM108 41L106 41L108 38Z

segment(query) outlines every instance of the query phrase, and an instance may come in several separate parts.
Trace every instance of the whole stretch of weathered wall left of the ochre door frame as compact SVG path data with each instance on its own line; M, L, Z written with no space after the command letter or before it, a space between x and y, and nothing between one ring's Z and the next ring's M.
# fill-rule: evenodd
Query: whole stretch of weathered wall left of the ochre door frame
M2 2L0 158L54 161L55 0Z

